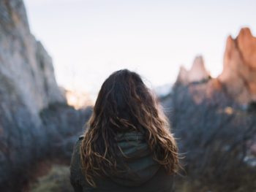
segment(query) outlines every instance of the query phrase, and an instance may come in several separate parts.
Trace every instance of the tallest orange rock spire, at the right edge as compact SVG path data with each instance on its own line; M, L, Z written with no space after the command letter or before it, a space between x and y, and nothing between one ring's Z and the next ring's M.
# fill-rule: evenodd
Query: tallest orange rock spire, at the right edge
M256 38L242 28L236 39L227 38L223 72L218 77L240 104L256 101Z

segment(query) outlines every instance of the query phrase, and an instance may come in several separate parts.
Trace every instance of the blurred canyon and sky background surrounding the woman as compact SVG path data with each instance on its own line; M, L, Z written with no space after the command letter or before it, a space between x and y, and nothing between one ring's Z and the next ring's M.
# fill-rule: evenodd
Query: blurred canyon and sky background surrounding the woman
M102 82L138 72L170 119L176 191L256 191L256 1L0 0L0 191L72 191Z

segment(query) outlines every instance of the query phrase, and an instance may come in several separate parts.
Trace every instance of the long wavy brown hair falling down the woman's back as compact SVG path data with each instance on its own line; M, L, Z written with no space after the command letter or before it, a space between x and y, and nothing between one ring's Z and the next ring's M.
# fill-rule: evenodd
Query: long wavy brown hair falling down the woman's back
M140 75L127 69L113 72L102 87L86 124L80 145L83 173L91 186L95 176L118 172L120 152L116 134L139 131L145 135L155 161L169 174L178 172L178 148L161 105Z

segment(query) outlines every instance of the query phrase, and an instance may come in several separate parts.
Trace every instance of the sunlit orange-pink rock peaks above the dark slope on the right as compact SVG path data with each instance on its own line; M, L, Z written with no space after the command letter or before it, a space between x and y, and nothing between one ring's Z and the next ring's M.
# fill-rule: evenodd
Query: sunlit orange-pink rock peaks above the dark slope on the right
M181 66L176 83L188 85L209 80L209 77L202 57L197 57L189 71ZM207 96L222 90L227 98L243 105L256 101L256 38L249 28L242 28L236 39L227 37L223 71L219 77L190 89L200 90L201 95L207 92Z

